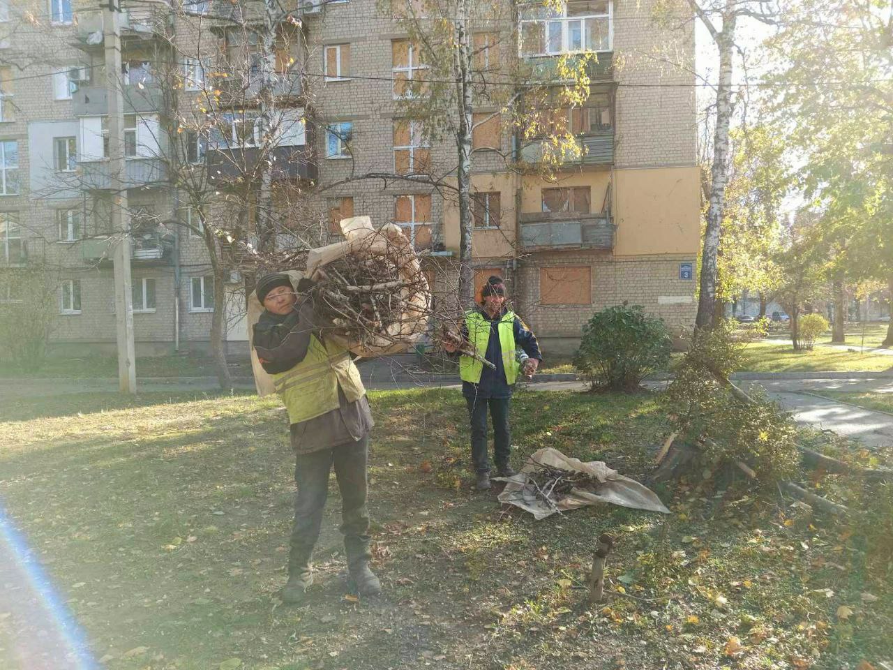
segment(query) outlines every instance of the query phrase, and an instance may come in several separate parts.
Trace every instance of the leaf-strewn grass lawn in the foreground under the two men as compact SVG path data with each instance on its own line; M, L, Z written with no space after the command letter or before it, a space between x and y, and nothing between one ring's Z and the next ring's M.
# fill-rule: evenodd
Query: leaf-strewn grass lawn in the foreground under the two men
M455 391L370 397L380 599L346 597L337 494L312 599L275 598L294 488L275 398L5 403L0 500L112 670L838 670L893 657L889 574L866 570L871 548L846 523L683 485L657 490L665 517L597 507L534 522L470 490ZM522 391L513 429L519 462L551 446L644 479L665 425L645 393ZM600 532L617 545L607 599L589 608ZM17 616L0 611L0 667L17 667Z

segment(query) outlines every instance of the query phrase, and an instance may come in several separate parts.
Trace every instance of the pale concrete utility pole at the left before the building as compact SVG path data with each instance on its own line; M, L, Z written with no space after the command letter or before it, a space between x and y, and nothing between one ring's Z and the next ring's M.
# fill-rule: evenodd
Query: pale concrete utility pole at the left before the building
M130 292L130 214L127 209L127 162L124 157L124 96L121 89L121 0L104 7L105 76L108 86L109 187L112 189L114 306L118 334L118 388L137 392L137 356L133 344L133 294Z

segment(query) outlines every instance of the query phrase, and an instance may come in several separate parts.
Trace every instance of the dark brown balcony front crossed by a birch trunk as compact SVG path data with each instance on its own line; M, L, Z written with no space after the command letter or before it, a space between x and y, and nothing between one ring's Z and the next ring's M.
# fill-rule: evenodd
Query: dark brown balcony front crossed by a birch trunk
M274 181L317 180L319 169L309 145L276 147L270 152ZM214 183L250 180L262 170L262 150L256 147L208 149L208 178Z

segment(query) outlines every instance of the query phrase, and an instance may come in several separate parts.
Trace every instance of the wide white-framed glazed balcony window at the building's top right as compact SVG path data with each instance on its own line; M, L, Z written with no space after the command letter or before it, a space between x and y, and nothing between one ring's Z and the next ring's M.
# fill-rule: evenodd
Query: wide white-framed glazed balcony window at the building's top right
M611 51L611 0L566 0L560 11L530 3L520 8L521 54L546 56Z

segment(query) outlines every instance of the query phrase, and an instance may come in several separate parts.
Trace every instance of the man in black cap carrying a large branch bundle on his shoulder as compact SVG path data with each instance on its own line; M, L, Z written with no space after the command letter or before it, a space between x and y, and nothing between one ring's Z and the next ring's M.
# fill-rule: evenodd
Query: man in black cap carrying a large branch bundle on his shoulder
M366 466L372 415L350 352L321 333L313 301L304 295L311 286L312 281L301 280L296 293L287 274L275 273L258 281L256 289L264 312L255 324L254 347L288 409L296 452L295 525L288 582L280 592L285 603L303 600L313 583L310 557L319 538L333 465L351 581L363 596L381 591L378 577L369 569Z

